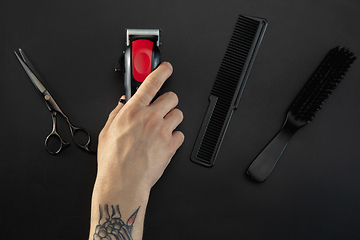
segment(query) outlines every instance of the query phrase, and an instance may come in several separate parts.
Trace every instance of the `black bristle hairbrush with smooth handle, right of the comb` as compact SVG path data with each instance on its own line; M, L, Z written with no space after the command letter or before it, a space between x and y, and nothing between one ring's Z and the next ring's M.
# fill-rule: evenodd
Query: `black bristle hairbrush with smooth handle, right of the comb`
M251 163L247 174L257 182L270 175L290 138L307 125L339 84L356 57L348 49L335 47L326 55L289 108L280 132Z

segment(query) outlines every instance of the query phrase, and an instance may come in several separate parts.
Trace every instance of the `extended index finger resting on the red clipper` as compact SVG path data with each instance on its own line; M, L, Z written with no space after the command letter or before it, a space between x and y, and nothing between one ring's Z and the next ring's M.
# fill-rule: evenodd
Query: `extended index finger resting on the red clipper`
M172 66L168 62L163 62L152 73L147 76L145 81L140 85L133 98L147 106L160 90L166 79L172 74Z

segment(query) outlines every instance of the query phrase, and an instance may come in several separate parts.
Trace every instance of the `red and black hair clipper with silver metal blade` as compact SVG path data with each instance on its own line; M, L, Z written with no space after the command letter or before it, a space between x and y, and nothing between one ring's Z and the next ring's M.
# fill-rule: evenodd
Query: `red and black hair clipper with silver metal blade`
M115 66L117 72L124 66L126 100L160 64L160 44L160 29L126 29L126 50Z

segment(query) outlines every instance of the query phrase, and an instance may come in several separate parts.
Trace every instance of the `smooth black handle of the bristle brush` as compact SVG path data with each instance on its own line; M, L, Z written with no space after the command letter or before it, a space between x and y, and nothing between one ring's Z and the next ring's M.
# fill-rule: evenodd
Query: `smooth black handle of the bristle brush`
M247 174L257 182L265 181L284 152L290 138L299 128L286 119L279 133L251 163Z

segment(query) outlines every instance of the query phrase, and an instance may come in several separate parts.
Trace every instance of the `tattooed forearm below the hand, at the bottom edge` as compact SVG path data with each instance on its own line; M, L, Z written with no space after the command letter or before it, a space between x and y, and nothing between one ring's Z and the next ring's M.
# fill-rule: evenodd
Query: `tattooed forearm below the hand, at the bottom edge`
M149 191L111 186L116 185L95 183L89 239L142 239Z

